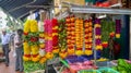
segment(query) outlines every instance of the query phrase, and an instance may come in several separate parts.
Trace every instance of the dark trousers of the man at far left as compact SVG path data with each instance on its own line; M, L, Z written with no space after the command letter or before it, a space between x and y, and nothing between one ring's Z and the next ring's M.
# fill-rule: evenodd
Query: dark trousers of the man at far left
M3 56L5 56L5 64L9 65L9 44L2 45Z

